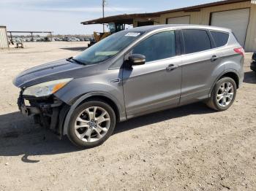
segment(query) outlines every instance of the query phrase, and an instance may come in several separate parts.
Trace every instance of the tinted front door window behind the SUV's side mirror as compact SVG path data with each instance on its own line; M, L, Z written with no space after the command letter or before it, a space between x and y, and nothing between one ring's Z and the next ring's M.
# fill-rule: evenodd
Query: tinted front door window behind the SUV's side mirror
M145 55L146 62L158 61L175 56L175 32L163 31L149 36L132 49L132 54Z

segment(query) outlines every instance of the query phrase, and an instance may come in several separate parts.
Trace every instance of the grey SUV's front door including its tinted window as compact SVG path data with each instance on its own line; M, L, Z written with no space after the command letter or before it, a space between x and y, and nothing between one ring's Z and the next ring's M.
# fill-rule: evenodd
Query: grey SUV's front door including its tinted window
M177 106L181 95L181 58L175 31L162 31L139 42L129 54L146 56L146 63L123 70L127 118Z

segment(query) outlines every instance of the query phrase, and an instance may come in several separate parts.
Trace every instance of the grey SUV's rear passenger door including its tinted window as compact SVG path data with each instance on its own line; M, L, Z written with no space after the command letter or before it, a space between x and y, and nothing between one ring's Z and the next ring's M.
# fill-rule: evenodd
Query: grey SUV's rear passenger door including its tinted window
M181 104L208 98L213 79L224 71L222 52L215 48L211 34L203 29L182 30L184 50L182 56Z

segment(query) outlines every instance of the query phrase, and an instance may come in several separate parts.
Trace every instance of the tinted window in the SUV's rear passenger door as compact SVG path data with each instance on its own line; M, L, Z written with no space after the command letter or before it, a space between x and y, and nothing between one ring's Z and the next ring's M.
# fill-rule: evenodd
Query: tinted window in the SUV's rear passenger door
M185 53L200 52L211 49L211 40L205 30L182 30Z

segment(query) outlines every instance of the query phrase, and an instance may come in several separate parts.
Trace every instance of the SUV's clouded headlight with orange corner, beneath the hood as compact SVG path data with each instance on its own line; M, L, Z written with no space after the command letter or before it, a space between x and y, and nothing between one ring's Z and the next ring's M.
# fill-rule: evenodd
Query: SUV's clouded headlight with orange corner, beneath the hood
M50 82L44 82L38 85L33 85L31 87L26 87L26 89L23 91L23 95L33 95L36 97L48 96L56 93L56 91L67 85L67 83L71 80L72 78L59 79Z

